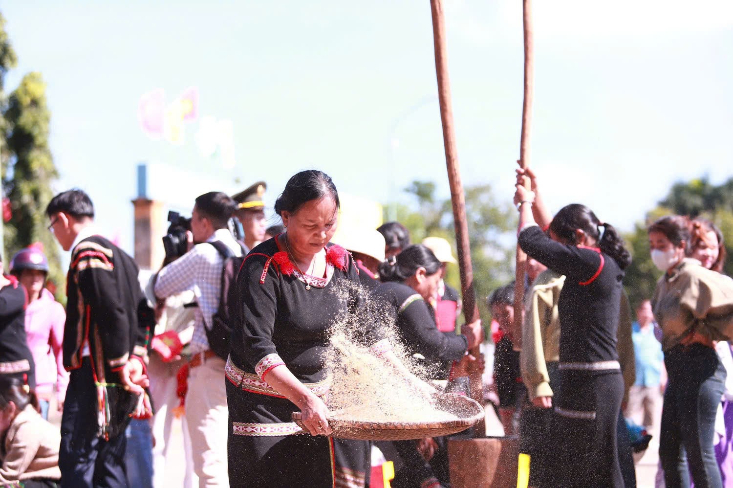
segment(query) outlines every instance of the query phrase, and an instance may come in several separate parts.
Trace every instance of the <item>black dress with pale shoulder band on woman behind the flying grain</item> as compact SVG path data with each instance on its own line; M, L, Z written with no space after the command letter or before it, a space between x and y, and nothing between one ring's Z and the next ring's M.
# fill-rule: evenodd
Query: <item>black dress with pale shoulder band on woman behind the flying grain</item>
M435 323L435 312L422 296L403 283L388 282L372 292L375 300L391 310L395 325L409 354L421 354L430 364L433 379L447 379L454 361L460 360L468 349L465 335L440 332ZM438 450L430 462L417 451L417 441L394 442L404 467L395 473L394 488L448 484L447 437L435 437Z

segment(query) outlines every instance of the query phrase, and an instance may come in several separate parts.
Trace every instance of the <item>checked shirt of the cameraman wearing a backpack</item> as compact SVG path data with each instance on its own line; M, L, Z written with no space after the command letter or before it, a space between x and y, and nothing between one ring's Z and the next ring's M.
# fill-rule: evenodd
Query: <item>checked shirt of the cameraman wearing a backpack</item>
M206 241L221 241L235 255L242 255L242 248L227 229L216 230ZM196 296L196 302L199 303L199 307L196 308L194 337L191 339L190 346L192 354L209 349L209 340L204 327L205 324L211 324L211 316L219 307L223 267L224 259L213 246L197 244L194 249L158 272L155 296L167 298L186 290L192 290Z

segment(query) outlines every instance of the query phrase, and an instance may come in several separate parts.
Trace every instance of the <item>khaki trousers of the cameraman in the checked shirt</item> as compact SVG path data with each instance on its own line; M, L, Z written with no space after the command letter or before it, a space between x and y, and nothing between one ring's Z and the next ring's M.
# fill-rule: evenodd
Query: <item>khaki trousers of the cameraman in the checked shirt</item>
M185 418L200 488L229 487L224 364L221 358L212 357L188 372Z

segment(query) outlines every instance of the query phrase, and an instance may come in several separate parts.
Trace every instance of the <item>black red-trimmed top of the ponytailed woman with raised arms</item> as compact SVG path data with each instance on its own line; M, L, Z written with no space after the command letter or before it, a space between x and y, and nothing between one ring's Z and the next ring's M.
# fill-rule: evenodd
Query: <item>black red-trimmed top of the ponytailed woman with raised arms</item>
M597 248L553 241L537 225L520 233L519 245L528 256L567 277L558 302L560 361L618 360L616 331L624 272L616 261Z

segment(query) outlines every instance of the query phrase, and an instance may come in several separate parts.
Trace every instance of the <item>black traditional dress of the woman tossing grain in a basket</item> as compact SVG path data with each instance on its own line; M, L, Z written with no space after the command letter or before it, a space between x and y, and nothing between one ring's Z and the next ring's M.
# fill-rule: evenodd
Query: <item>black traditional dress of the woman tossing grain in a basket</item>
M298 407L267 382L268 372L284 364L326 399L329 327L361 306L348 252L329 245L326 261L325 277L303 276L271 238L247 255L240 270L241 300L232 310L240 327L232 331L226 363L232 487L333 487L343 477L336 473L333 440L301 431L291 417Z

